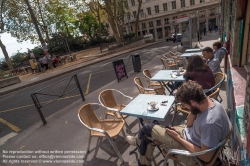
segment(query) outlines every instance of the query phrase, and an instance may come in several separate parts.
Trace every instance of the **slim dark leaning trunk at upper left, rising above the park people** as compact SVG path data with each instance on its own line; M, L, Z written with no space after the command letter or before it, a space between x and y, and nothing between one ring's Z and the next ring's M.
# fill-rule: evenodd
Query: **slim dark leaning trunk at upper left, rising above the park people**
M39 40L40 40L40 42L41 42L41 45L42 45L42 47L43 47L44 54L46 55L46 57L48 57L48 56L49 56L49 52L48 52L46 43L45 43L45 41L44 41L44 39L43 39L43 37L42 37L42 34L41 34L41 32L40 32L40 29L39 29L39 27L38 27L38 22L37 22L37 19L36 19L34 13L33 13L32 8L31 8L31 6L30 6L29 0L24 0L24 2L26 3L26 5L27 5L27 7L28 7L28 11L29 11L29 13L30 13L30 17L31 17L31 19L32 19L32 21L33 21L33 24L34 24L35 29L36 29L36 33L37 33L38 38L39 38Z

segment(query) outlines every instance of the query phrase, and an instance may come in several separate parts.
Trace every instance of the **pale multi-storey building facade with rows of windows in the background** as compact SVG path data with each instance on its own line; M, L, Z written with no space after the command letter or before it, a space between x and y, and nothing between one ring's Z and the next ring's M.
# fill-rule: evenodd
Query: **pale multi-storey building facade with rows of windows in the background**
M199 29L213 29L221 23L221 2L219 0L142 0L139 11L138 35L153 34L157 39L169 33L182 33L187 23L175 24L175 19L196 15ZM128 0L131 11L125 21L124 34L135 33L135 21L138 10L137 0Z

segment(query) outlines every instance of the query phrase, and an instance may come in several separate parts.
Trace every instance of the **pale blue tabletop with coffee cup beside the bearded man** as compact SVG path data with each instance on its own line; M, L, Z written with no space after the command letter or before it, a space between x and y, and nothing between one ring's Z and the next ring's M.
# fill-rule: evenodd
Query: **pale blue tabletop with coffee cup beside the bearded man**
M148 103L151 101L158 103L157 106L159 109L157 111L147 110ZM168 101L166 106L161 105L162 101ZM142 119L164 121L170 112L174 101L174 96L139 94L125 108L123 108L120 113Z

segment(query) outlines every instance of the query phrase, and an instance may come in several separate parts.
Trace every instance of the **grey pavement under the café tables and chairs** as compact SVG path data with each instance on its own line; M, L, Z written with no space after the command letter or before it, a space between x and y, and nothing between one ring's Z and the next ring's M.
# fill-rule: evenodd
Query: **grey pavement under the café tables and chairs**
M202 45L211 46L211 41L204 41ZM161 62L158 58L154 58L150 63L146 63L142 66L143 69L150 69L152 75L162 69ZM46 118L48 124L42 126L41 122L38 122L36 125L30 127L29 129L19 133L16 137L8 140L3 146L0 146L1 149L1 157L3 154L2 150L6 151L18 151L18 150L30 150L30 151L73 151L73 150L87 150L87 141L89 138L89 131L80 123L77 117L78 109L86 103L98 103L98 95L104 89L118 89L124 92L128 96L136 97L139 94L138 89L136 88L133 79L134 77L143 77L142 72L128 73L128 79L123 79L121 82L117 82L117 80L112 81L111 83L97 89L96 91L90 93L85 96L86 101L82 102L82 100L78 100L73 104L67 106L66 108L58 111L56 114L51 115ZM146 82L143 82L146 85ZM223 106L227 108L226 101L226 89L225 83L222 86L221 97L223 98ZM120 97L118 97L117 101L120 101ZM125 100L125 103L128 103L129 100ZM97 108L96 113L98 117L103 117L104 109ZM185 115L179 114L176 116L175 125L180 124L183 120L185 120ZM161 124L166 125L171 122L172 114L167 116L167 119ZM129 117L126 119L126 122L129 124L129 127L132 129L132 132L138 132L138 121L135 117ZM126 129L126 127L124 127ZM106 139L103 139L101 144L97 146L97 139L92 138L90 153L84 155L84 159L81 158L81 161L84 160L84 164L46 164L46 165L89 165L89 166L114 166L121 165L121 161L114 154L112 147ZM129 151L133 150L134 147L129 146L128 143L125 142L122 134L116 138L116 145L119 151L122 154L123 159L125 160L125 164L127 165L129 161L136 161L138 159L138 155L136 153L129 155ZM95 151L96 149L96 151ZM95 154L96 153L96 154ZM41 155L41 153L37 154ZM46 154L51 155L51 153ZM95 157L94 157L95 156ZM154 151L155 163L153 165L163 165L163 157L159 154L159 151L156 149ZM55 160L55 159L54 159ZM12 165L12 164L3 164L3 165ZM14 164L13 164L14 165ZM18 165L27 165L27 164L18 164ZM42 166L45 164L31 164L35 166ZM170 165L172 163L170 162Z

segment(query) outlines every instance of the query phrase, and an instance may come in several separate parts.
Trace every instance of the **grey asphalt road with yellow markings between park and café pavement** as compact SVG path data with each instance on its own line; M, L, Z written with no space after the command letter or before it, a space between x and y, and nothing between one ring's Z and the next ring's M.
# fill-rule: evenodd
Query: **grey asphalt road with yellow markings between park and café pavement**
M134 52L137 52L141 56L142 64L150 62L151 59L155 58L158 55L162 55L163 53L167 52L171 47L176 46L176 43L172 42L161 42L156 45L143 48ZM124 63L126 66L127 72L133 71L132 60L130 59L128 64L129 55L127 53L125 55L109 59L107 61L103 61L97 63L92 66L88 66L82 68L80 70L74 71L72 73L65 74L63 76L42 82L40 84L30 86L25 89L18 90L11 94L7 94L1 96L0 99L0 138L11 133L11 132L22 132L23 130L27 129L28 127L34 125L38 121L40 121L40 117L38 112L33 105L33 101L31 99L30 94L35 92L39 89L42 89L50 84L53 84L59 80L62 80L66 77L69 77L73 74L77 74L80 85L82 87L83 93L87 89L87 84L89 80L89 75L91 74L91 84L88 93L95 91L96 89L108 84L109 82L116 80L116 76L113 70L112 61L124 58ZM68 80L69 81L69 80ZM49 94L61 94L63 90L66 88L68 81L61 82L56 86L53 86L43 93ZM69 84L68 90L76 87L74 81ZM44 104L46 101L52 100L55 97L39 95L39 101ZM76 100L80 99L79 91L75 90L68 94L66 98L61 99L59 101L53 102L44 108L42 108L42 112L45 117L59 111L60 109L64 108L65 106L75 102ZM3 122L7 121L10 125L6 125ZM11 128L11 124L15 127Z

